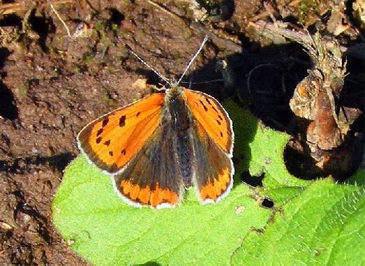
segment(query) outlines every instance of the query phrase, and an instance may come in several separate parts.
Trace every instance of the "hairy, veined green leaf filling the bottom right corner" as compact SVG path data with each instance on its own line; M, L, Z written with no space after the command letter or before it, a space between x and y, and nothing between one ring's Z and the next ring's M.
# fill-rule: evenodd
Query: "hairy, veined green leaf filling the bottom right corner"
M286 191L284 191L286 193ZM232 265L364 265L364 188L313 182L250 232Z

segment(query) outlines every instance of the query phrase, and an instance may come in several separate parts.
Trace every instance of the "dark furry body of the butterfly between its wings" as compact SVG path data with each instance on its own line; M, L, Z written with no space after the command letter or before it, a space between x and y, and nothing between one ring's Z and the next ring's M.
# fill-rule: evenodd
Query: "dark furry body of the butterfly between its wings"
M186 104L182 87L177 85L166 92L167 121L172 129L172 146L183 177L184 186L191 186L193 177L193 143L191 142L191 110Z

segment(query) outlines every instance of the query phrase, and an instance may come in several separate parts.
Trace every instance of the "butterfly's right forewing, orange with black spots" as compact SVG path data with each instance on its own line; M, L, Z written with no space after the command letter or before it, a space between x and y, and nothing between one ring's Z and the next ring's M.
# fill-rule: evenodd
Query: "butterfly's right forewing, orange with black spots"
M234 136L228 113L215 98L208 94L190 89L184 89L184 94L195 119L204 128L204 132L207 132L226 154L232 156Z

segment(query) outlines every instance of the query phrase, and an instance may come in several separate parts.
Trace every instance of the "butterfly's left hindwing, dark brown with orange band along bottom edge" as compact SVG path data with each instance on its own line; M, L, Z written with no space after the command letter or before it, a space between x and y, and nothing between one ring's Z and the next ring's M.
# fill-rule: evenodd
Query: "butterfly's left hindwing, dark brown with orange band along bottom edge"
M172 138L170 121L163 121L125 170L112 177L114 189L129 205L161 209L181 201L184 184Z

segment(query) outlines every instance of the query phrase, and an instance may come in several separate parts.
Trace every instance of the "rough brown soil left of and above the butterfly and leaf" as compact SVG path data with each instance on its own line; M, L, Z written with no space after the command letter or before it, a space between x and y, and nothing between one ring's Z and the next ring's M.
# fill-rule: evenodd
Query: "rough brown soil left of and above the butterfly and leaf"
M267 19L261 1L237 0L234 15L225 21L213 17L216 22L202 21L200 14L206 13L191 4L195 1L54 1L53 8L70 36L47 1L3 3L1 265L89 265L54 228L50 206L62 171L79 154L75 136L82 126L148 96L151 91L144 80L161 82L125 44L163 75L177 77L205 34L211 32L211 41L191 68L198 71L186 77L187 82L221 79L221 73L215 71L216 58L230 55L237 72L253 66L253 61L258 64L288 56L292 49L260 49L267 40L254 36L248 22L260 14ZM356 34L350 38L355 40ZM242 56L240 45L259 55L255 59ZM251 62L243 63L243 57ZM200 89L209 91L210 87ZM219 100L234 93L223 82L214 87L209 92Z

